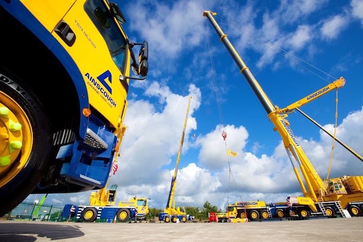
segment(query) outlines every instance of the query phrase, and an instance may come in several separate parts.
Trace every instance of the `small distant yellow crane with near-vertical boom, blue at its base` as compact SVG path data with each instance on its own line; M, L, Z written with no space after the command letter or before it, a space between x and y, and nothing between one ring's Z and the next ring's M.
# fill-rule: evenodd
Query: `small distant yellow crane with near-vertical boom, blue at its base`
M174 169L174 175L172 178L172 184L170 185L168 202L166 203L166 207L164 208L163 212L159 213L159 221L164 221L165 223L169 223L170 221L172 221L173 223L176 223L177 221L181 221L182 223L185 223L185 222L187 222L187 220L190 220L190 216L189 216L189 214L187 214L185 207L177 207L175 209L175 200L173 202L173 199L174 199L174 192L175 192L176 175L178 174L180 154L181 154L183 142L184 142L185 128L187 127L187 120L188 120L188 113L189 113L189 106L190 106L191 98L192 97L189 97L187 115L185 116L184 128L183 128L183 133L182 133L182 137L180 140L178 156L176 158L176 165L175 165L175 169Z

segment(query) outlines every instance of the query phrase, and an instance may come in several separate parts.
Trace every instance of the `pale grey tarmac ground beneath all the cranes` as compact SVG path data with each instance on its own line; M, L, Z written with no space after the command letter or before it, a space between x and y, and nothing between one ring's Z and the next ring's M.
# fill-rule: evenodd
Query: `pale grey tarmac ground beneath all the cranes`
M242 223L76 223L0 220L0 242L363 241L363 217Z

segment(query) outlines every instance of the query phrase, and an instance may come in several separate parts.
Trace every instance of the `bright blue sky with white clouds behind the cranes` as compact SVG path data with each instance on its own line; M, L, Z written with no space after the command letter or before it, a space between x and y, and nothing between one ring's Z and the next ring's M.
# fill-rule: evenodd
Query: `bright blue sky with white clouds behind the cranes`
M117 201L136 195L150 197L150 207L166 206L189 96L176 206L203 207L209 201L225 210L227 202L241 199L280 202L301 196L281 137L205 10L217 13L221 29L273 105L288 106L343 76L336 136L363 155L362 0L116 2L129 39L149 43L149 73L145 80L130 80L128 129L119 169L109 182L109 187L118 184ZM334 133L335 91L300 109ZM331 137L300 113L287 119L325 179ZM227 156L226 148L237 157ZM330 170L329 178L363 175L363 162L335 142ZM52 194L45 203L85 205L90 193ZM26 200L35 196L41 195Z

